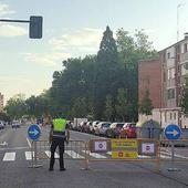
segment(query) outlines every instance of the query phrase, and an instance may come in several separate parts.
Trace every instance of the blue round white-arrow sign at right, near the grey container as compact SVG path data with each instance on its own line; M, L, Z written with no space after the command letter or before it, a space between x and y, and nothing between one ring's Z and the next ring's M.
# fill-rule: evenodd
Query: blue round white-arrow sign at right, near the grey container
M181 137L181 129L178 125L170 124L165 128L165 136L167 139L179 139Z

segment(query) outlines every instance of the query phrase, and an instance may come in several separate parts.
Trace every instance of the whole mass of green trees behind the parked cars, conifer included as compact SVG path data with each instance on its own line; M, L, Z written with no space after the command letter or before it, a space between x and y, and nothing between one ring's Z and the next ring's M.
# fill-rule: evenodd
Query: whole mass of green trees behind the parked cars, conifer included
M6 109L14 117L61 112L66 118L137 121L137 62L156 55L143 30L130 35L118 29L115 40L106 27L97 54L64 60L48 91L27 100L10 98Z

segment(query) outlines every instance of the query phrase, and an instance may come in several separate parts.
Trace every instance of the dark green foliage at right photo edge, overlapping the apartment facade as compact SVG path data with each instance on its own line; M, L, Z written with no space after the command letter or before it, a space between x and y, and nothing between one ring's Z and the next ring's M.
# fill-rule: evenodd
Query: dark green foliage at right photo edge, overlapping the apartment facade
M188 116L188 77L186 77L186 84L182 87L182 95L180 100L180 107L182 113Z

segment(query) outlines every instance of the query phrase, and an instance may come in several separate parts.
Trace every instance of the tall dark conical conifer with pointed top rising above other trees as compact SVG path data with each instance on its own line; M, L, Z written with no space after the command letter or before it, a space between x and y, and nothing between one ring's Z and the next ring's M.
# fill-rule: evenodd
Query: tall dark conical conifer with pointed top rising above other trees
M105 116L106 96L112 96L112 104L114 106L117 90L122 86L123 82L117 48L109 27L106 27L103 33L94 72L94 115L96 119L101 119Z

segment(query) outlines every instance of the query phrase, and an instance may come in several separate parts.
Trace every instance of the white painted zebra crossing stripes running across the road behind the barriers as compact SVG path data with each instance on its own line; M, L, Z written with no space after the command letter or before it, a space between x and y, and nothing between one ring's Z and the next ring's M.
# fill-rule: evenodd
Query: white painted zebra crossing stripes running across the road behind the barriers
M22 152L22 153L24 153L22 155L24 156L25 160L32 160L32 153L31 152ZM46 156L46 158L50 158L50 156L51 156L50 150L44 150L43 153ZM17 158L18 159L20 158L18 155L20 155L20 153L17 154L17 152L6 152L3 155L0 156L0 157L2 157L2 158L0 158L0 160L4 161L4 163L15 161ZM85 155L90 156L91 158L94 158L94 159L108 159L112 156L112 152L108 152L106 154L98 154L98 153L91 153L91 152L87 152L87 150L86 152L81 150L80 153L76 153L74 150L65 150L64 158L84 159ZM55 158L58 159L59 157L60 157L59 154L55 153ZM147 159L147 158L150 158L150 157L145 156L145 155L138 155L138 158L139 159ZM171 159L171 153L168 152L168 150L160 150L160 158ZM175 154L175 158L188 159L187 156L181 156L181 155L177 155L177 154Z

